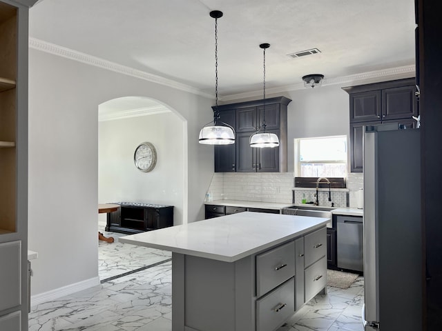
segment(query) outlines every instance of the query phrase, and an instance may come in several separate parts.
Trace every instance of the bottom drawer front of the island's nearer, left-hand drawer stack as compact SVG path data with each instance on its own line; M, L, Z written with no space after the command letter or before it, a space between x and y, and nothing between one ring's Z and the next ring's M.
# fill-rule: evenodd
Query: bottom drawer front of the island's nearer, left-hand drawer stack
M295 311L295 281L291 278L256 301L256 331L276 330Z

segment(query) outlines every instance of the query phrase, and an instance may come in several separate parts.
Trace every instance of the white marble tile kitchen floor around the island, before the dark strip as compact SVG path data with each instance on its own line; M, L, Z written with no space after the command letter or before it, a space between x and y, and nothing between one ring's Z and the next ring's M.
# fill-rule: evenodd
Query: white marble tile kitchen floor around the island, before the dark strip
M171 331L171 261L41 303L31 331ZM363 277L347 290L328 288L278 331L362 331Z

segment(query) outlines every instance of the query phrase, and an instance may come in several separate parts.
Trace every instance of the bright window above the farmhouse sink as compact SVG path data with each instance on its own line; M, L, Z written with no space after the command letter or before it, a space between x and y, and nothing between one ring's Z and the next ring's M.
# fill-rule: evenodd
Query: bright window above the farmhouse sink
M347 177L347 137L295 139L295 177Z

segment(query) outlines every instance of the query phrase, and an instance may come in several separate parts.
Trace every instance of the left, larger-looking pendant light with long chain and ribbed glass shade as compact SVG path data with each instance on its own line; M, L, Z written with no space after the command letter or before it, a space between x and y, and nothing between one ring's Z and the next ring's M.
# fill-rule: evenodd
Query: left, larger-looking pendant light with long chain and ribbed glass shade
M218 19L222 17L220 10L213 10L210 16L215 19L215 109L213 110L213 121L206 123L200 131L200 143L206 145L229 145L235 143L235 130L229 124L220 121L218 111ZM212 124L213 126L209 126Z

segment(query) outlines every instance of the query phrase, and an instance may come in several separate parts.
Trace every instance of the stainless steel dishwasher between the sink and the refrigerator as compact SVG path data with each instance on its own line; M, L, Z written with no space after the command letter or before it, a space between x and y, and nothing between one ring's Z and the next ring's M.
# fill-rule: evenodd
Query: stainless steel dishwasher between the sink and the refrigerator
M363 218L338 216L338 268L363 272Z

